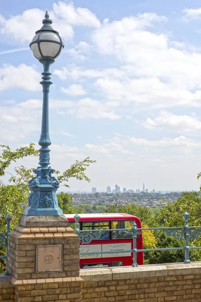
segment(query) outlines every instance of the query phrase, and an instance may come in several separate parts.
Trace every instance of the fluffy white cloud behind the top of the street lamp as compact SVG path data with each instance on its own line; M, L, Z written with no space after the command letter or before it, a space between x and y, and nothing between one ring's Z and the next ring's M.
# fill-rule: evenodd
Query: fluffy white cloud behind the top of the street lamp
M54 22L53 28L66 40L74 35L72 26L100 26L99 20L91 11L86 8L75 8L72 2L54 3L49 14ZM8 19L0 15L0 33L10 35L17 42L31 42L34 37L33 29L40 29L43 19L44 11L39 9L26 10L21 15Z

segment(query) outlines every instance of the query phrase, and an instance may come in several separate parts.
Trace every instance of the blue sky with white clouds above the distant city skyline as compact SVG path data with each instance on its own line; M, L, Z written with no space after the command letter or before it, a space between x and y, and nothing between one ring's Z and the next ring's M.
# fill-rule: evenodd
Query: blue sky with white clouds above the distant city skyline
M2 3L0 143L13 148L40 136L42 65L29 43L46 10L65 44L51 66L51 166L97 161L71 190L198 190L201 0Z

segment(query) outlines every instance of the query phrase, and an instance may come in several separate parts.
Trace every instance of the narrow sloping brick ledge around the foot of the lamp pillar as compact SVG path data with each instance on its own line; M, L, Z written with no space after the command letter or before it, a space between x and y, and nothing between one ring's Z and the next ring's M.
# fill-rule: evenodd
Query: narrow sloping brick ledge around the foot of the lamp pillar
M20 286L20 285L35 285L35 284L46 284L46 283L50 284L50 283L61 283L61 282L83 282L83 279L81 277L24 279L24 280L16 280L15 278L12 278L10 282L14 286Z

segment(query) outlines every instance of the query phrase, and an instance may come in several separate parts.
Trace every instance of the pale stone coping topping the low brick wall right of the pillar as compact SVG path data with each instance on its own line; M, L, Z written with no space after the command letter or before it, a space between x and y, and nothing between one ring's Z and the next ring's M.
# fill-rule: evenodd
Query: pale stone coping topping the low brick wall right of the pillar
M200 274L201 262L123 266L80 270L84 282Z

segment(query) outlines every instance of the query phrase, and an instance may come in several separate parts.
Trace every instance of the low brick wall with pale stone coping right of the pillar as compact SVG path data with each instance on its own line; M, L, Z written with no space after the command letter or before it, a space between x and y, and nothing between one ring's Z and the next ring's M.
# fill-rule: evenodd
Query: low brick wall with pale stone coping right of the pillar
M80 272L82 302L200 302L201 263L146 265Z

